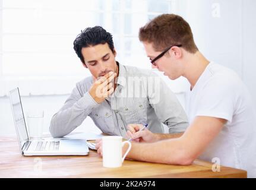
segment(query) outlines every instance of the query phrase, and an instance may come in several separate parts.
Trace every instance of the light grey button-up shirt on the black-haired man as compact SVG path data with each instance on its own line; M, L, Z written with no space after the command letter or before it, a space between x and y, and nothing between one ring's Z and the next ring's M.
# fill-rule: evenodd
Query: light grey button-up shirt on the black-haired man
M128 124L148 124L151 132L162 133L163 125L170 133L183 132L187 115L165 82L154 72L119 65L117 87L111 97L98 104L90 96L93 78L77 83L64 106L50 123L53 137L63 137L81 125L87 116L110 135L125 137Z

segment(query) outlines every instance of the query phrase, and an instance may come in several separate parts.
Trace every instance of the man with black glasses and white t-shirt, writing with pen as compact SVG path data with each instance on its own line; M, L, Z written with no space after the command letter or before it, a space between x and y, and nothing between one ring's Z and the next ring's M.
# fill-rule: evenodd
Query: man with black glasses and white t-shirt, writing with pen
M244 169L248 177L256 177L256 115L238 75L208 61L195 45L189 24L178 15L159 15L141 27L139 37L153 68L171 80L184 76L191 84L190 125L174 139L147 129L139 131L140 124L129 125L127 136L135 143L127 157L181 165L200 158ZM101 141L96 147L102 153Z

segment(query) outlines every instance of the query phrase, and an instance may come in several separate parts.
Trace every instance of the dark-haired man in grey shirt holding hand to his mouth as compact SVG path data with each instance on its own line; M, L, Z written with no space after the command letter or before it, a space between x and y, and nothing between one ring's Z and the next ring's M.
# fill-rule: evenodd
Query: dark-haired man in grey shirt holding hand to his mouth
M128 124L148 125L151 132L169 128L173 138L188 126L175 94L154 72L115 61L112 35L102 27L87 28L74 41L74 50L91 77L77 83L50 123L53 137L63 137L90 116L102 132L125 138Z

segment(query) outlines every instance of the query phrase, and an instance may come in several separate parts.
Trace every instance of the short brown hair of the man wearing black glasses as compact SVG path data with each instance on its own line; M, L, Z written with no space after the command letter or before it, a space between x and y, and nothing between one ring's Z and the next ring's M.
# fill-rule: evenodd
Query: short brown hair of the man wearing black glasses
M140 28L141 42L153 43L155 50L171 45L182 45L190 53L197 52L191 28L187 21L175 14L162 14Z

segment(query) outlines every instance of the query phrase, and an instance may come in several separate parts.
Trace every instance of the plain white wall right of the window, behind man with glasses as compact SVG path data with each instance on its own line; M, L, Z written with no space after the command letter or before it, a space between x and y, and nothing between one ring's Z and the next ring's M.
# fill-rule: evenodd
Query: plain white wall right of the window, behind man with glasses
M210 61L239 74L256 107L256 1L179 0L178 14L188 21L195 43Z

